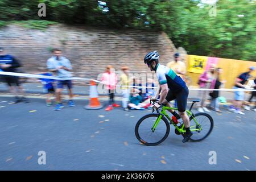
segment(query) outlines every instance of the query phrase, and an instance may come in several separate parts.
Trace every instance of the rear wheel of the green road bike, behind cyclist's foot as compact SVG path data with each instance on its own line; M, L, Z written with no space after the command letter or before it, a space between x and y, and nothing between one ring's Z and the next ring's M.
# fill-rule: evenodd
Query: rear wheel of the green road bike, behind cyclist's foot
M190 130L193 133L192 137L190 138L191 142L199 142L207 138L213 129L213 118L209 114L196 113L195 119L199 125L197 125L192 117L189 118Z

